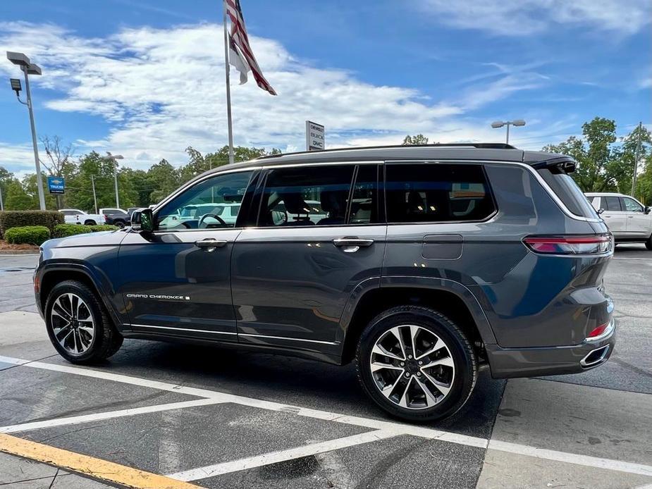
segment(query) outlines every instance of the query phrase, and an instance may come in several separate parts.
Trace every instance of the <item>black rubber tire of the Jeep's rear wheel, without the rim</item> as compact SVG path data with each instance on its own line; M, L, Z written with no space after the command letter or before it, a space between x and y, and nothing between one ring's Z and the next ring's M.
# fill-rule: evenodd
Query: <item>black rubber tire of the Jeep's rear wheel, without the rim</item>
M374 373L371 372L371 350L374 349L376 341L390 328L405 325L429 330L445 343L450 358L453 359L455 376L450 383L450 391L432 407L410 409L410 407L399 406L381 393L374 379ZM355 363L358 379L367 395L391 416L407 421L435 421L455 414L469 399L478 376L476 354L462 330L443 314L419 306L394 307L372 319L360 336ZM424 377L420 379L423 380ZM398 383L398 380L395 382Z

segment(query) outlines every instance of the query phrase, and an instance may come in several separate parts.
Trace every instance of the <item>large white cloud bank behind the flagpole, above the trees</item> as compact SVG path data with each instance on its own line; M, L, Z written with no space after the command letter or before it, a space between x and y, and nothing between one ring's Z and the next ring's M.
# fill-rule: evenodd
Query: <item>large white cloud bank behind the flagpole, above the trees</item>
M214 24L129 28L106 38L85 38L56 25L0 23L0 51L30 54L44 72L35 84L60 94L47 101L49 109L91 113L110 127L95 141L61 135L77 141L78 152L114 151L137 168L161 158L182 163L188 145L211 151L225 144L222 39L221 26ZM326 125L328 147L400 143L418 132L436 134L441 142L500 140L486 130L486 121L456 118L546 83L530 66L498 66L495 80L467 85L458 99L431 101L414 89L372 85L344 70L314 68L273 39L252 37L251 42L278 97L252 81L232 86L235 144L300 149L306 119ZM0 63L0 71L12 68L7 64ZM14 156L0 146L0 161L29 165L28 159L19 162Z

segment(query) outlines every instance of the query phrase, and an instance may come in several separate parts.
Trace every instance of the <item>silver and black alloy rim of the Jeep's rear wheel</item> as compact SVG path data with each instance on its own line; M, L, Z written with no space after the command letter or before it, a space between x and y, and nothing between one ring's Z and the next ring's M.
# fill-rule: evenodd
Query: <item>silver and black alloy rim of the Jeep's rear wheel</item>
M411 324L390 328L376 340L369 368L380 392L407 409L439 404L455 380L448 345L431 330Z

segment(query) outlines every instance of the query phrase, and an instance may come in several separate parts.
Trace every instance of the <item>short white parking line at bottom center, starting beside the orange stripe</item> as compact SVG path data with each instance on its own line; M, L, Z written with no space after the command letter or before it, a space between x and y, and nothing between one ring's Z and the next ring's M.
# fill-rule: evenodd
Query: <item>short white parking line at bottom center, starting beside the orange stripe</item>
M385 440L386 438L392 438L402 434L403 433L400 433L400 431L367 431L367 433L360 433L359 435L336 438L335 440L313 443L312 445L289 448L288 450L278 450L278 452L264 453L262 455L255 455L254 457L247 457L246 459L233 460L233 462L224 462L223 464L208 465L205 467L198 467L197 469L171 473L166 477L178 479L179 481L184 482L197 481L208 477L221 476L223 473L253 469L254 467L276 464L278 462L285 462L286 460L309 457L309 455L315 455L318 453L331 452L333 450L339 450L340 448L353 447L355 445L362 445L363 443L375 442L377 440Z

